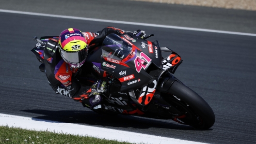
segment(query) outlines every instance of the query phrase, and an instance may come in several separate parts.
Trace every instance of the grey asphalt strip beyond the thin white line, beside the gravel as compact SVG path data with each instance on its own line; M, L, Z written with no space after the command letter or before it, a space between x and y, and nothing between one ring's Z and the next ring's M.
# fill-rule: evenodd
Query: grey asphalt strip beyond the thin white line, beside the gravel
M130 0L0 0L0 9L256 33L256 11Z

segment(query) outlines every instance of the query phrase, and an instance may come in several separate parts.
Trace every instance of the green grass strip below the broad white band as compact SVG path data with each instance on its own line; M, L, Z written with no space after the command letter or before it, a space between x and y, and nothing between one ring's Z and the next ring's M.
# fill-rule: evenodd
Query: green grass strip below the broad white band
M0 126L0 144L131 144L89 136Z

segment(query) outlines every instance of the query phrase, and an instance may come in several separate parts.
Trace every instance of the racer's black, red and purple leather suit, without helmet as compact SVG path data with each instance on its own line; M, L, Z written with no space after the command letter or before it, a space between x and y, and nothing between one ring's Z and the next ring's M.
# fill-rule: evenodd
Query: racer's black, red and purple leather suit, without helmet
M99 43L105 39L105 37L111 33L120 35L125 31L116 29L113 27L107 27L101 31L82 32L89 45L89 51L96 47ZM71 68L61 57L58 48L58 39L50 39L44 49L44 63L45 72L48 78L48 83L56 93L68 96L75 101L80 101L85 104L86 107L93 108L100 103L101 98L99 95L92 95L92 84L87 86L81 86L77 77L81 73L87 74L86 63L80 68ZM88 67L87 67L88 68ZM92 81L94 82L94 81ZM91 96L91 97L90 97ZM83 104L83 105L84 105Z

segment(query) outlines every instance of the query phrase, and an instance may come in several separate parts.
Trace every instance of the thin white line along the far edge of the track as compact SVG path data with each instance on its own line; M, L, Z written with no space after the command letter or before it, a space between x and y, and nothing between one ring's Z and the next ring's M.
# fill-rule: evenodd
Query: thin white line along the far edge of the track
M31 13L31 12L2 10L2 9L0 9L0 12L15 13L15 14L39 15L39 16L49 16L49 17L59 17L59 18L69 18L69 19L80 19L80 20L89 20L89 21L97 21L97 22L108 22L108 23L117 23L117 24L139 25L139 26L158 27L158 28L185 29L185 30L216 32L216 33L225 33L225 34L256 36L256 34L253 34L253 33L232 32L232 31L223 31L223 30L212 30L212 29L186 28L186 27L176 27L176 26L146 24L146 23L135 23L135 22L126 22L126 21L117 21L117 20L105 20L105 19L96 19L96 18L86 18L86 17L77 17L77 16L55 15L55 14L41 14L41 13Z

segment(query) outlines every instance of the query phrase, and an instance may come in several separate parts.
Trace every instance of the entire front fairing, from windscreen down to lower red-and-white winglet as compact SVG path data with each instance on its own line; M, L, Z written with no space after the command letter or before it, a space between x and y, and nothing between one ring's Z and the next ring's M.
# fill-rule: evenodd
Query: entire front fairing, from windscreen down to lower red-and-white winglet
M134 101L141 105L152 100L160 75L167 71L162 69L158 41L152 43L128 33L108 35L101 47L89 53L86 62L99 79L106 78L107 73L118 79L121 92L138 89Z

